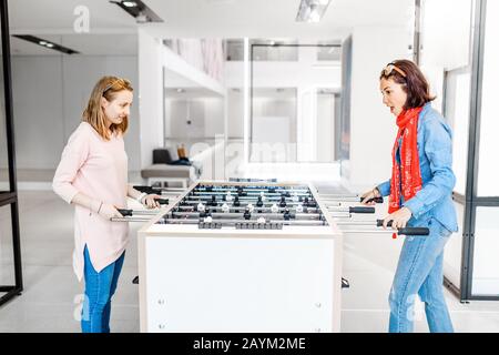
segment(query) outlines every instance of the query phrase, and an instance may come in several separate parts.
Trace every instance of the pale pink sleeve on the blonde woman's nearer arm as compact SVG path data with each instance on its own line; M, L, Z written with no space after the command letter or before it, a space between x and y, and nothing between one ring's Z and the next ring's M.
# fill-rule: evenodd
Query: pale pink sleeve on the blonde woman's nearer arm
M79 193L77 187L73 186L73 181L89 156L90 140L88 133L86 130L80 128L70 136L53 176L53 191L68 203L71 203L74 195Z

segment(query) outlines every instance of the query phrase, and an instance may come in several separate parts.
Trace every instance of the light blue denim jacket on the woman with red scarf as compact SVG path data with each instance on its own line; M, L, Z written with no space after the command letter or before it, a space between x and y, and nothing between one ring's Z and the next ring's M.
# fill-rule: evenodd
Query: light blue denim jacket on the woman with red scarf
M426 103L419 113L418 153L422 189L401 205L413 212L408 225L426 225L434 217L448 231L457 232L452 190L456 176L452 172L452 133L444 118ZM383 196L390 194L390 180L379 184Z

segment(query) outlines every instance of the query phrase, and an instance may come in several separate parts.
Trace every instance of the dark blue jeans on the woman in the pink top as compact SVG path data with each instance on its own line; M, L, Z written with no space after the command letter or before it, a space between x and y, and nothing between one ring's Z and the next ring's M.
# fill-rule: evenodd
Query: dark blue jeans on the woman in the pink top
M90 261L85 245L84 277L85 297L81 314L81 331L83 333L110 333L109 320L111 317L111 297L116 291L118 277L124 261L124 252L112 264L98 273Z

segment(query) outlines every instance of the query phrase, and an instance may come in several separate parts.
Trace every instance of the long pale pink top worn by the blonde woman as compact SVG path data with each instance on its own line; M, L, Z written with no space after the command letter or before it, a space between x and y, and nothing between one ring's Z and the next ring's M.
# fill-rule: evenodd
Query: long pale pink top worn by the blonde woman
M79 192L96 201L126 209L128 155L123 136L105 141L86 122L80 123L65 145L52 182L53 191L71 203ZM83 251L100 272L118 260L129 242L129 224L111 222L86 207L75 205L73 268L83 277Z

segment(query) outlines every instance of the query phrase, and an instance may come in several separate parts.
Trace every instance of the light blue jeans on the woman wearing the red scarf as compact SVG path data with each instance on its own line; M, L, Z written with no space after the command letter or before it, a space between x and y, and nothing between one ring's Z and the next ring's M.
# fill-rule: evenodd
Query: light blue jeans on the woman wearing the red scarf
M390 333L413 332L417 295L425 303L430 332L454 332L442 285L444 247L451 233L432 217L428 227L428 236L405 236L388 300Z

